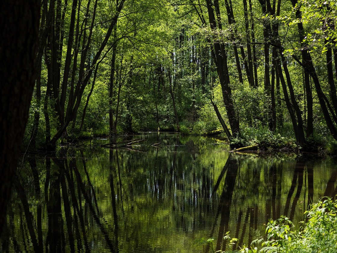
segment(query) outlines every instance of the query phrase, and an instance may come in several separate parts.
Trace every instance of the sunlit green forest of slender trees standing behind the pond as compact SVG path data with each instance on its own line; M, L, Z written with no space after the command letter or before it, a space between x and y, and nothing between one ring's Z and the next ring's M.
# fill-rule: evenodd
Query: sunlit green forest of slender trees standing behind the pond
M42 0L25 143L337 140L335 1ZM283 138L283 139L282 139Z

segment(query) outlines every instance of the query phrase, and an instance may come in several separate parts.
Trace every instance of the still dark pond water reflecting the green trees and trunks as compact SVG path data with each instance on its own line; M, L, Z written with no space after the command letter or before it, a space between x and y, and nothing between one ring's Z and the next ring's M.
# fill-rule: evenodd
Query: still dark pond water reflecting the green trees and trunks
M147 141L26 157L0 252L211 252L202 237L232 250L225 232L247 244L269 219L299 222L311 200L336 194L332 158L235 154L219 138L167 133L117 141L135 138Z

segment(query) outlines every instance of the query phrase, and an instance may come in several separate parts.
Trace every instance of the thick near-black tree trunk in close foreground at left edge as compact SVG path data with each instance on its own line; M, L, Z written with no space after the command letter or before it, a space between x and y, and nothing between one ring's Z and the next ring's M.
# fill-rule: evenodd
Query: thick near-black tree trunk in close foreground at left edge
M0 234L34 89L39 0L0 2Z

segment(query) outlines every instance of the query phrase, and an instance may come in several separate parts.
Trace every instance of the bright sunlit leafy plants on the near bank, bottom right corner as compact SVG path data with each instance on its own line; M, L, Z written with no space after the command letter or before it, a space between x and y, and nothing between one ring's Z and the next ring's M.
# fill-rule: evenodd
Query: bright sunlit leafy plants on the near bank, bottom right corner
M295 229L293 223L285 216L270 220L266 228L267 241L256 239L249 247L243 246L237 252L337 253L337 201L327 197L322 198L318 203L311 205L304 214L305 221L301 222L298 229ZM228 233L223 239L230 239L229 244L238 241L236 238L230 238ZM207 240L207 243L213 246L213 241Z

